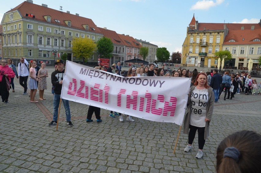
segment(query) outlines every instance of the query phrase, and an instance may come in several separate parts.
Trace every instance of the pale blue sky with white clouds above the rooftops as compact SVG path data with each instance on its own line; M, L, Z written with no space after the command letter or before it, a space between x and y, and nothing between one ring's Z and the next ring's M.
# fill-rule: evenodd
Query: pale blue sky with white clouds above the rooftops
M5 1L0 19L23 0ZM70 2L70 3L68 3ZM259 23L260 0L33 0L92 19L98 27L181 52L193 14L199 23Z

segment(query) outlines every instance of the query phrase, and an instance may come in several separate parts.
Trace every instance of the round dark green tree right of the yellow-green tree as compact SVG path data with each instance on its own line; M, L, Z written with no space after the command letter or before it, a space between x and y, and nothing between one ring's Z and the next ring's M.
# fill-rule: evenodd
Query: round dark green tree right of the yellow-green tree
M113 49L114 46L111 39L103 37L97 41L97 51L100 54L100 58L111 58Z

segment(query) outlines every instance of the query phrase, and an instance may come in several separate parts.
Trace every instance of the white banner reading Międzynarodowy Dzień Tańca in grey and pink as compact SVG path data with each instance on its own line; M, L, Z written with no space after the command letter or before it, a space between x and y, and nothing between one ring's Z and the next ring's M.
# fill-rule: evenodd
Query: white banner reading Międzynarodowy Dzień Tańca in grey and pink
M187 77L122 77L67 60L61 98L182 125L190 83Z

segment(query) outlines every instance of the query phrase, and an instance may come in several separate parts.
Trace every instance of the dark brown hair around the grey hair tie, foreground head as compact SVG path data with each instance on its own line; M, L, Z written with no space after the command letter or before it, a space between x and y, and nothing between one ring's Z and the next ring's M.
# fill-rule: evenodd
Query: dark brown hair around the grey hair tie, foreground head
M229 135L217 147L216 171L241 173L259 172L261 169L261 135L248 130L242 130ZM224 150L227 147L235 147L240 152L238 162L232 157L225 156Z

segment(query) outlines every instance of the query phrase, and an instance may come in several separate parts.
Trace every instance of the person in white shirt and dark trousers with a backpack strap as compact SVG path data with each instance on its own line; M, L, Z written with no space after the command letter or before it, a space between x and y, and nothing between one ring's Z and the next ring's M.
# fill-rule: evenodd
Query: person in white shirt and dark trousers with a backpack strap
M27 79L29 76L28 62L25 57L20 59L20 63L18 64L18 78L20 85L24 88L23 95L27 94Z

